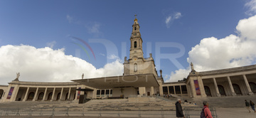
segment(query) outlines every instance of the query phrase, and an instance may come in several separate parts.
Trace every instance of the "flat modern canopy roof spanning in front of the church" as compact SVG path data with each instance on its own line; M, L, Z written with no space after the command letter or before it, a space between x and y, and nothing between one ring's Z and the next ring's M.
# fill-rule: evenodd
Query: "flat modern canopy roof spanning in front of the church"
M159 87L159 83L154 74L98 77L72 81L97 89L111 89L116 87Z

